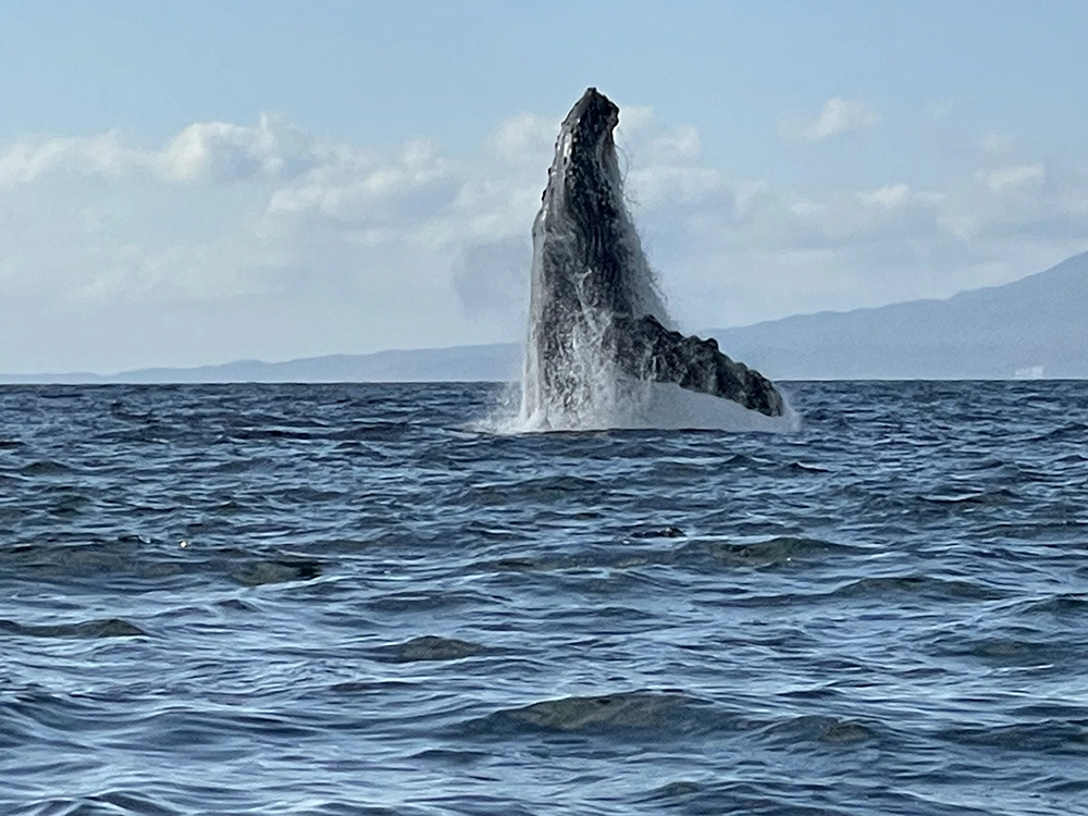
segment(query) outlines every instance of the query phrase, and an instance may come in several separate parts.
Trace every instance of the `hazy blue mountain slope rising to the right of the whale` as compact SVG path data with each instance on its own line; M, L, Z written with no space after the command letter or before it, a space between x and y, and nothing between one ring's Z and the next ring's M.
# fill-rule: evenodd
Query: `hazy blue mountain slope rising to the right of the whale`
M947 300L709 332L779 380L1088 378L1088 252Z

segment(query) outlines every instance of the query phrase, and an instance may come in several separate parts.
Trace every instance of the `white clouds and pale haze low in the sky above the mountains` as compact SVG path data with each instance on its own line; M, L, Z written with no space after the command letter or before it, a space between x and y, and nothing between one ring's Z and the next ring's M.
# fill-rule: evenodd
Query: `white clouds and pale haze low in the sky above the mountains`
M693 125L621 109L634 217L692 330L945 296L1086 248L1086 165L1017 156L1011 137L978 136L976 163L939 187L784 189L709 164ZM833 98L791 134L803 146L879 121ZM557 128L499 122L471 161L273 115L158 146L121 131L0 146L0 370L518 338Z

